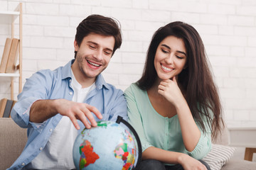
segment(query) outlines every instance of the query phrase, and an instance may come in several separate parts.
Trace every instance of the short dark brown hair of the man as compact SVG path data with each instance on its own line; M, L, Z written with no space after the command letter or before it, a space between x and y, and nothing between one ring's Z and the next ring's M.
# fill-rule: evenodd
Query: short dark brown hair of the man
M119 22L114 18L109 18L100 15L90 15L87 16L77 27L77 33L75 34L75 40L80 47L83 38L85 38L90 33L95 33L105 36L114 37L114 49L112 55L114 55L115 50L119 48L122 44L121 28L119 27ZM75 51L75 57L76 57Z

